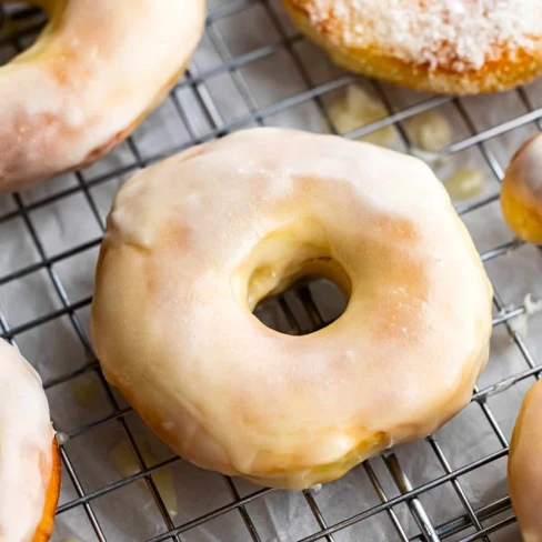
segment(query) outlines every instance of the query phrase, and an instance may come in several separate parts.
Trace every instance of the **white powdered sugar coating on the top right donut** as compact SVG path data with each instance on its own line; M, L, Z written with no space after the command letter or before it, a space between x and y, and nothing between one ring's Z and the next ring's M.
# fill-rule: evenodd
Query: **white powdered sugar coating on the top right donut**
M345 47L374 44L398 59L455 72L540 48L539 0L309 0L315 26L335 21Z

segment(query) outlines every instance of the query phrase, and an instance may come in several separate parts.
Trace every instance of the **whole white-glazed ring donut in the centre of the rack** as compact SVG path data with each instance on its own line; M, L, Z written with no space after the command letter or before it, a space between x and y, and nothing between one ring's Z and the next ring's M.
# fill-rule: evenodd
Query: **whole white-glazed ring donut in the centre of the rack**
M349 298L331 325L291 337L252 314L305 275ZM107 379L180 455L300 489L428 435L469 402L491 294L423 162L255 129L120 190L91 331Z

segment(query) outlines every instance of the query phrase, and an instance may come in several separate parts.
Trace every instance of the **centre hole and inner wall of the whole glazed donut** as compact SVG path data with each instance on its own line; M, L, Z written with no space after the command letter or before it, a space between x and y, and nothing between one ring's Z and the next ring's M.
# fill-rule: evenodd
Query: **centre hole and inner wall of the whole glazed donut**
M323 287L322 287L323 284ZM320 292L320 305L335 308L332 320L345 311L350 300L350 277L333 253L325 228L312 219L289 223L265 235L238 267L231 279L233 294L239 304L257 317L264 315L268 301L292 291L304 304L312 302L312 291ZM325 299L320 299L321 297ZM337 308L340 308L337 310ZM324 327L325 322L315 307L307 313L312 318L310 333ZM295 314L288 314L297 331L301 325ZM292 321L293 319L293 321ZM267 318L260 320L268 324ZM280 325L268 325L275 331ZM290 330L291 331L291 330ZM304 333L304 332L303 332Z

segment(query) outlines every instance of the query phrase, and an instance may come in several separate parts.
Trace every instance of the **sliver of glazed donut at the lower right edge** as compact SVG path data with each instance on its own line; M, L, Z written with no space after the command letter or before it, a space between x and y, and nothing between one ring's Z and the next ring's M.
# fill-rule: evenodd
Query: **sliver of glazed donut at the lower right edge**
M542 541L542 382L523 399L509 454L512 506L524 542Z

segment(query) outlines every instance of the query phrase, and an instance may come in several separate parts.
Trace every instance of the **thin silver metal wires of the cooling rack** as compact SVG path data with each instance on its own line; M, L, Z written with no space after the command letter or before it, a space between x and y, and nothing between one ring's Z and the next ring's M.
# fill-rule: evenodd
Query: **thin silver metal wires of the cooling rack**
M221 23L229 18L234 18L242 12L254 9L258 9L264 23L273 29L277 39L270 43L258 43L258 40L255 40L255 44L248 43L244 50L241 50L241 52L235 54L229 50L229 46L221 34ZM16 11L14 13L16 14L13 14L13 11L9 11L3 17L0 17L0 26L2 19L8 21L13 17L19 19L30 17L33 21L37 18L37 12L31 9ZM197 533L200 532L199 530L207 523L227 513L238 513L244 524L244 531L242 534L235 534L237 538L232 533L223 533L222 540L264 540L249 508L255 501L264 501L275 492L269 489L259 489L241 496L237 482L228 476L223 476L223 482L230 493L230 502L214 508L207 513L194 516L181 524L173 521L152 475L182 460L179 458L171 458L152 466L145 464L143 454L134 438L133 430L128 422L128 416L132 414L132 411L129 406L124 405L103 379L88 339L83 314L91 302L91 298L86 295L81 299L72 300L69 295L69 288L64 284L61 273L59 272L59 267L64 262L70 262L78 255L96 250L100 244L101 234L104 231L104 215L102 210L103 205L98 201L96 189L110 183L112 180L131 174L138 169L147 167L175 151L224 136L235 129L253 124L263 126L273 123L272 119L275 119L277 116L280 116L282 112L309 102L314 106L314 110L321 116L327 129L332 132L334 131L332 119L328 116L323 98L325 94L338 89L343 89L361 78L340 73L331 80L318 83L314 82L311 74L313 67L308 66L299 52L298 46L303 42L303 39L290 29L282 16L283 13L278 2L272 0L215 0L214 2L211 2L207 18L205 39L208 40L208 46L213 48L219 61L214 62L214 64L209 68L202 69L199 67L200 64L198 63L197 57L195 62L190 67L184 78L177 84L168 98L169 107L173 112L172 114L175 117L175 122L178 122L180 127L182 126L182 129L188 136L184 141L174 142L174 144L171 144L165 151L159 150L157 152L149 152L138 141L138 134L134 134L134 137L130 138L126 143L124 150L127 151L128 158L121 160L120 164L117 164L114 168L110 168L109 171L100 172L92 177L84 172L76 173L72 178L72 182L69 182L67 185L61 185L60 189L52 190L52 193L41 194L32 199L24 198L24 194L14 194L10 197L9 202L6 204L6 209L0 211L0 238L7 231L8 223L11 223L14 220L21 221L24 232L28 235L33 250L38 254L31 263L14 270L9 268L2 269L0 267L0 290L3 287L10 287L13 283L21 282L36 273L44 273L56 297L52 309L37 311L37 313L32 313L28 318L16 323L10 321L6 307L2 307L0 297L0 335L14 345L18 345L19 340L23 334L32 332L32 330L38 328L46 327L59 319L67 319L71 330L82 345L84 359L74 363L76 369L68 370L61 374L56 374L52 378L47 378L44 380L44 388L48 392L51 392L56 389L61 389L64 384L74 381L83 374L94 374L103 389L110 406L108 414L67 431L68 436L71 440L76 440L81 435L96 431L104 424L117 423L126 439L130 442L130 446L137 458L139 465L138 473L89 491L86 489L84 483L81 482L81 471L76 466L76 458L69 453L68 446L61 446L64 480L71 481L74 489L74 495L71 495L70 499L61 502L58 515L61 518L62 514L67 514L70 511L82 510L90 522L96 540L99 540L100 542L110 541L112 539L108 538L102 528L102 522L94 511L94 503L100 498L114 494L119 490L127 488L130 484L134 484L137 481L144 481L147 484L148 490L155 501L162 521L160 533L151 538L145 538L144 540L147 540L147 542L160 542L165 540L180 542L188 540L185 536L189 533L195 533L190 540L207 540L203 535L198 538ZM42 21L38 16L36 24L32 23L14 37L10 36L9 39L6 37L2 38L2 34L0 33L0 52L8 51L6 56L9 57L17 52L17 50L21 50L26 44L27 37L36 33ZM8 50L9 48L11 49ZM243 74L243 69L254 62L264 61L277 53L285 54L289 58L291 66L293 66L297 71L301 84L304 86L304 90L297 91L291 96L285 96L280 100L262 104L254 98L251 84ZM215 78L222 76L229 77L229 81L243 102L244 112L234 118L228 118L228 116L224 114L224 111L221 110L217 103L215 96L213 96L213 92L210 90L211 82ZM463 120L470 133L445 148L441 152L441 155L453 155L469 149L478 149L492 174L499 181L502 179L503 169L486 143L519 127L533 123L538 127L542 119L542 109L534 109L532 107L528 93L522 88L516 90L518 98L524 106L524 112L522 114L505 122L501 122L498 126L476 130L476 124L472 119L472 114L465 106L465 102L461 99L453 99L450 97L428 97L426 99L419 100L414 104L398 110L393 107L385 86L375 81L370 81L368 84L372 87L374 93L381 97L388 108L389 116L378 122L361 127L360 129L345 134L345 137L354 139L383 127L394 126L399 131L402 144L405 149L410 149L411 141L408 131L404 129L403 122L423 111L430 111L439 107L448 106L454 109L454 114ZM190 100L194 104L194 108L200 112L200 118L197 120L194 120L193 110L183 102L182 92L187 92L190 96ZM203 129L201 129L202 124L204 126ZM70 198L76 195L83 198L88 210L90 210L93 217L98 233L92 239L74 242L73 245L67 250L51 253L41 237L37 215L40 212L50 209L51 205L62 208L62 205L67 204L66 202ZM473 213L476 210L490 205L496 201L498 198L499 193L495 191L474 202L468 202L459 207L458 211L462 217L466 217L469 213ZM76 227L77 224L73 225ZM505 258L506 254L513 253L521 247L521 242L511 240L510 242L484 250L481 253L481 257L484 263L488 263L493 260ZM314 299L310 288L302 287L298 289L293 295L295 295L295 302L304 308L309 324L307 323L307 320L300 321L295 311L292 310L291 302L285 297L281 297L278 300L278 304L288 323L289 332L307 333L325 325L327 317L319 308L319 303ZM524 368L522 370L514 371L513 374L506 375L504 379L484 388L476 388L474 391L472 403L481 410L486 423L499 441L499 448L490 454L485 454L475 461L455 468L452 466L453 463L446 455L444 448L440 444L439 439L434 435L429 436L426 442L438 463L441 465L442 474L431 481L425 481L424 483L419 484L413 484L411 482L405 470L402 468L398 454L390 451L382 455L382 461L395 484L397 491L394 491L392 495L390 495L390 492L385 489L385 483L381 481L381 474L379 474L373 464L368 461L359 469L362 469L367 474L367 480L372 484L379 503L360 506L357 513L341 519L340 521L329 521L325 511L322 511L318 503L317 493L313 490L307 490L303 492L303 499L308 505L307 514L312 514L318 529L311 534L301 536L299 539L300 542L313 542L317 540L339 542L339 540L343 540L340 538L341 533L348 528L351 528L354 524L364 524L363 522L365 520L382 515L387 516L393 525L394 540L411 542L449 539L461 540L462 542L473 540L488 541L491 540L492 534L503 531L514 523L515 520L508 496L503 495L489 504L478 506L476 503L473 503L469 498L461 482L462 476L479 471L485 465L495 463L508 454L509 442L490 408L488 399L495 394L503 393L505 390L522 381L539 378L540 372L542 371L542 365L536 363L525 340L520 337L510 324L514 318L525 312L523 304L518 303L515 308L506 309L505 303L496 289L494 307L495 318L493 320L493 325L495 328L503 327L506 330L518 352L524 360ZM50 340L54 341L54 338L51 338ZM449 485L453 490L462 504L463 511L452 520L435 524L431 514L428 512L426 506L422 502L422 496L443 485ZM418 524L418 533L411 534L408 532L408 529L401 521L400 514L398 514L398 509L401 505L408 506L408 510ZM130 503L127 502L126 506L130 506ZM372 531L368 528L364 540L372 540L371 533ZM277 534L273 540L282 539ZM293 539L288 538L288 540Z

